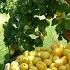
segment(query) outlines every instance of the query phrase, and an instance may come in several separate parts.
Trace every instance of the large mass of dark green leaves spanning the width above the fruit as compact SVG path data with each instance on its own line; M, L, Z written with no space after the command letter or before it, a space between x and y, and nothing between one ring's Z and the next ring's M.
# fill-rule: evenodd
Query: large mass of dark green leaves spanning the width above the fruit
M48 20L52 18L52 25L56 25L58 39L64 37L64 33L70 30L70 5L61 0L6 0L1 2L4 6L0 11L9 13L10 19L4 27L4 41L6 46L11 46L17 51L33 50L43 45L46 36L46 27L50 25ZM45 16L40 20L38 16ZM54 18L54 16L56 16ZM38 28L36 31L35 29ZM36 38L31 38L34 34ZM67 39L67 38L66 38ZM68 40L68 39L67 39Z

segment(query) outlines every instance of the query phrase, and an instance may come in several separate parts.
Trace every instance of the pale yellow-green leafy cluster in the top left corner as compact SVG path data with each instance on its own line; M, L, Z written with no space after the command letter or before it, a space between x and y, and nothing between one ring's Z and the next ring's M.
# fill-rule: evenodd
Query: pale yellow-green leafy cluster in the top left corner
M17 1L17 0L16 0ZM17 3L15 0L0 0L0 12L10 13L15 9Z

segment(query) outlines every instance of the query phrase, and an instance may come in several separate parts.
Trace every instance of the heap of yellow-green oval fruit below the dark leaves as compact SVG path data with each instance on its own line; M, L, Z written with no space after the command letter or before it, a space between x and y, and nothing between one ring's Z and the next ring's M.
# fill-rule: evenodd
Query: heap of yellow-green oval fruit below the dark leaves
M25 51L10 64L9 70L70 70L70 44Z

